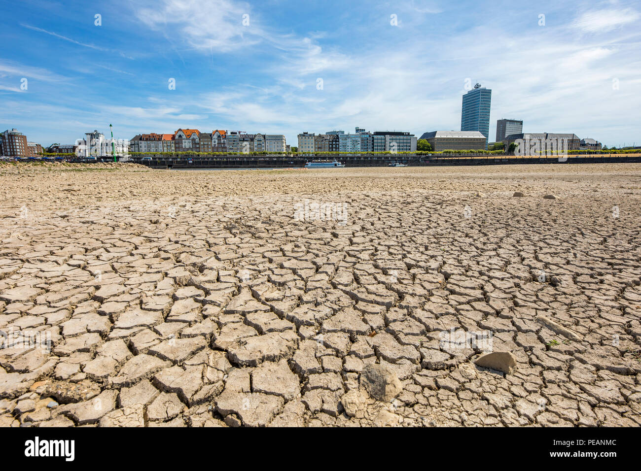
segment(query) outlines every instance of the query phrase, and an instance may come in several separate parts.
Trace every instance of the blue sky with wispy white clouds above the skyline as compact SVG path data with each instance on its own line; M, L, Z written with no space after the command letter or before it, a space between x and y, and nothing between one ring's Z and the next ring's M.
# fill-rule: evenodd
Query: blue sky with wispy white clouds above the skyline
M356 126L420 136L460 129L476 82L492 89L490 141L512 118L526 132L641 143L638 1L0 6L0 131L44 145L110 123L118 138L239 129L296 145L302 131Z

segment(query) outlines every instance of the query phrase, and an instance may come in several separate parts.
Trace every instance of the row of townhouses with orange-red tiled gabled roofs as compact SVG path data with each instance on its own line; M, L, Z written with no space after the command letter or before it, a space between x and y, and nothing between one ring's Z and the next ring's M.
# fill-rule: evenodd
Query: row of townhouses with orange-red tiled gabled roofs
M178 129L174 134L138 134L129 141L131 152L285 152L282 134L247 134L244 131Z

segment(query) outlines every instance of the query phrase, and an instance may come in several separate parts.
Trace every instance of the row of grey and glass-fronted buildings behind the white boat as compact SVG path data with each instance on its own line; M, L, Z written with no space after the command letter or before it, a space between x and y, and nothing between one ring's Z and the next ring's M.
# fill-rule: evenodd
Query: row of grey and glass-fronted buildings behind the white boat
M354 134L345 131L327 131L325 134L298 135L299 152L413 152L416 151L416 136L400 131L376 131L370 133L356 128Z

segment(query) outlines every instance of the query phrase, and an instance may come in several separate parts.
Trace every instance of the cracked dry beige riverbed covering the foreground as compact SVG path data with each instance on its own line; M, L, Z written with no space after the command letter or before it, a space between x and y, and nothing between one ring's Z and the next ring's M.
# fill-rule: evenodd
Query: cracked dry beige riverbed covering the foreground
M2 426L641 425L641 165L4 164L0 199Z

